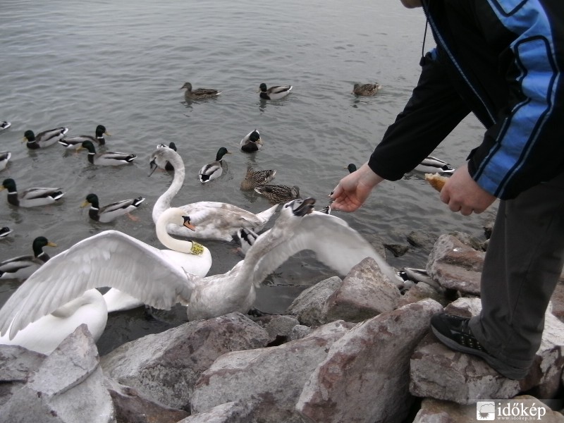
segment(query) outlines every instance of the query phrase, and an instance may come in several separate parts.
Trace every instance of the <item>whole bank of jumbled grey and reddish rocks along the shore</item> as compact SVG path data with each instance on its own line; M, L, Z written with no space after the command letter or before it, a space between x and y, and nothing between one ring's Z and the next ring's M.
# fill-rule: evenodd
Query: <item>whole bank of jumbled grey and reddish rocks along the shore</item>
M429 333L443 308L479 312L483 258L470 237L446 234L429 255L433 283L401 291L364 259L285 315L190 321L102 357L85 325L48 356L0 345L0 421L475 422L477 401L495 399L501 414L564 422L564 278L522 381Z

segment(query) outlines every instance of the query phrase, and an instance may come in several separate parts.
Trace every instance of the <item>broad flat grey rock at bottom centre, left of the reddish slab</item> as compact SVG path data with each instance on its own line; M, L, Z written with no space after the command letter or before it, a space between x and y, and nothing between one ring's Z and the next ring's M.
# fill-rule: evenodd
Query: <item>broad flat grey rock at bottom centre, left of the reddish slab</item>
M305 381L351 326L336 321L298 341L222 355L197 381L192 412L240 401L252 405L249 423L302 423L295 403Z

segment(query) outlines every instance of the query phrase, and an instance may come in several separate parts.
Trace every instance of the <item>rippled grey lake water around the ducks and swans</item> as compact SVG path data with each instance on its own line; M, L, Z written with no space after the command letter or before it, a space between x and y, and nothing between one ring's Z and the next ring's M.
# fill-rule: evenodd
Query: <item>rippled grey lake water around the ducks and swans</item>
M0 226L13 233L0 240L0 260L31 251L45 235L58 247L51 256L94 233L114 228L159 246L152 205L171 181L159 172L147 178L148 158L161 142L175 142L187 178L174 204L202 200L229 202L253 212L269 207L263 197L242 192L247 165L275 168L275 183L298 185L316 197L319 208L345 175L349 163L362 164L396 117L419 75L425 21L421 10L399 1L25 1L2 4L0 120L12 126L0 133L0 151L12 152L0 178L18 188L59 186L60 204L17 209L0 192ZM427 37L426 49L432 47ZM217 99L186 104L180 87L223 91ZM277 102L261 102L261 82L294 86ZM351 94L355 82L379 82L375 97ZM137 160L121 168L94 167L86 154L60 145L31 151L23 133L60 125L70 135L94 133L103 124L109 149L133 152ZM240 152L240 139L259 129L264 148ZM469 117L434 155L453 166L481 140L482 127ZM197 180L200 167L219 147L228 171L213 183ZM80 204L95 192L102 204L146 197L134 222L90 221ZM452 214L420 176L384 183L354 214L338 214L364 235L407 245L405 236L465 231L482 236L491 214ZM240 257L234 244L204 243L212 251L210 274L231 269ZM393 266L424 266L427 252L410 249L388 255ZM333 275L307 252L288 260L264 282L257 307L283 312L303 289ZM18 283L0 286L0 305ZM183 309L159 312L147 321L142 310L111 316L99 341L100 353L116 345L185 321Z

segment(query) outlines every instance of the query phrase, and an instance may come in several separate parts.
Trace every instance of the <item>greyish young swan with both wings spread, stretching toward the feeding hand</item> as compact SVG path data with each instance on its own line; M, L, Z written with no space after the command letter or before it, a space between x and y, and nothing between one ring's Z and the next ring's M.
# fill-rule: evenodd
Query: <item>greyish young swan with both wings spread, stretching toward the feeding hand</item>
M0 335L8 333L8 338L15 339L28 324L102 286L117 288L159 309L170 309L177 302L188 305L189 320L245 313L264 278L302 250L312 250L321 263L341 275L372 257L391 281L397 280L367 240L342 219L314 212L314 201L285 204L274 226L255 240L245 259L227 273L213 276L187 273L118 231L86 238L50 259L8 298L0 309ZM124 266L129 271L123 272Z

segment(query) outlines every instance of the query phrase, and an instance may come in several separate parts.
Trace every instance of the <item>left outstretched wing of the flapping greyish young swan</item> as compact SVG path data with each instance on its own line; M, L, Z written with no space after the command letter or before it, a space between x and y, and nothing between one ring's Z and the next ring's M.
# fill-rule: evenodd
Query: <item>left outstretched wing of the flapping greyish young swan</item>
M187 302L192 291L185 271L170 264L160 250L125 233L104 231L76 243L35 271L0 309L0 334L6 333L13 320L13 338L27 324L86 290L104 286L161 309Z

